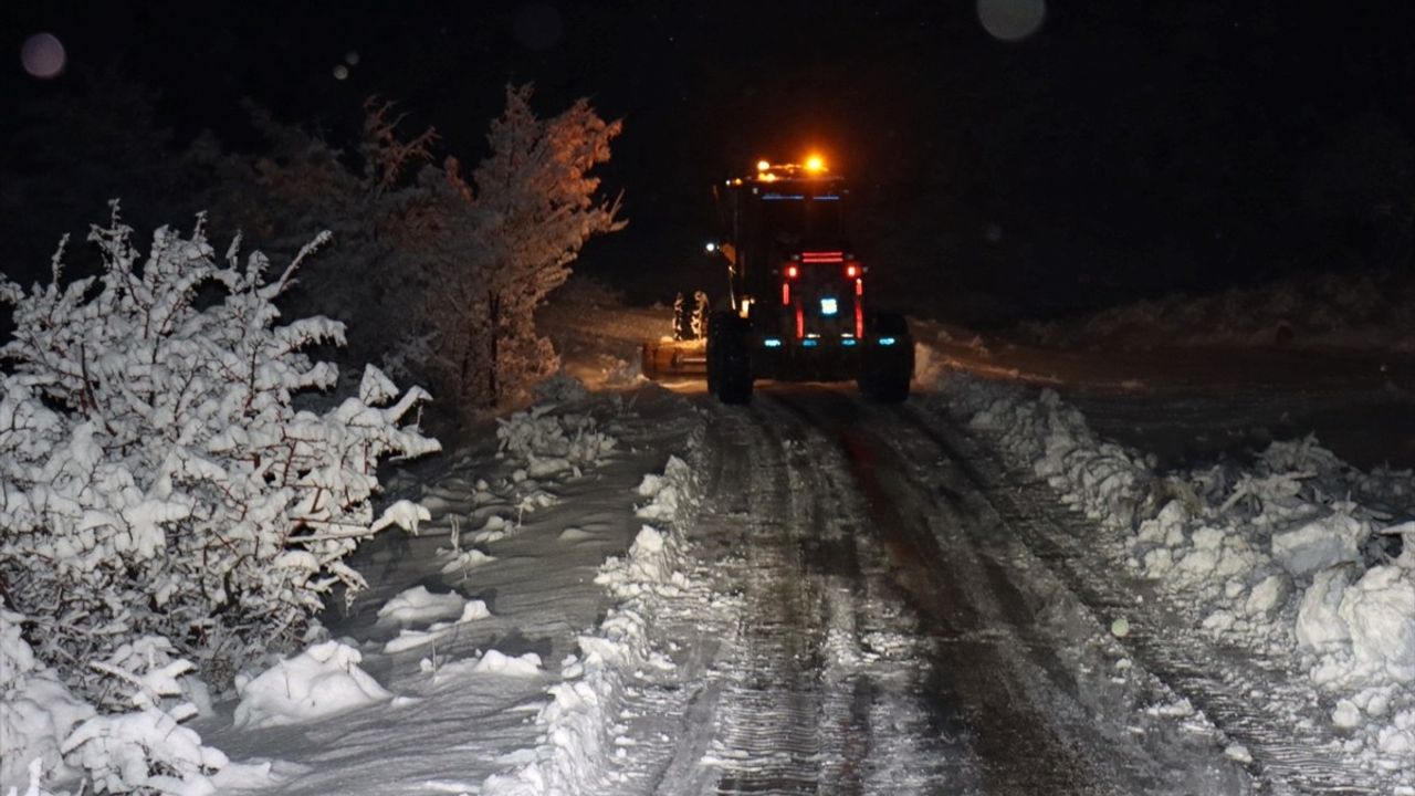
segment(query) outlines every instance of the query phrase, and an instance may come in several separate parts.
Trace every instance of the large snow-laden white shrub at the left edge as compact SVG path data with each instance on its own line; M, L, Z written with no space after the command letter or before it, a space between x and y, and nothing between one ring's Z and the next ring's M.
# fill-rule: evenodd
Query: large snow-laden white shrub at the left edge
M400 422L426 398L369 367L325 412L294 399L337 370L303 348L341 343L323 319L277 324L275 299L321 235L275 279L259 252L218 262L198 221L161 228L146 258L116 218L89 241L96 278L28 293L0 354L0 578L34 622L28 642L69 684L125 642L171 640L225 680L299 639L374 523L385 457L437 450ZM238 239L239 242L239 239Z

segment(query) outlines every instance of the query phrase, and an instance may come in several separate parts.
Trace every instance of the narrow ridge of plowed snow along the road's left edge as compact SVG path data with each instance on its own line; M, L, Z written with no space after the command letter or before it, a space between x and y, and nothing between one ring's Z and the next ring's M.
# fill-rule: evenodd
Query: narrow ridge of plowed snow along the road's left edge
M614 727L620 701L635 671L672 669L674 663L651 644L654 601L691 588L685 574L685 547L676 530L698 504L699 483L693 469L671 456L662 476L644 476L640 494L649 501L641 518L669 530L642 525L625 558L610 558L594 582L620 601L593 635L580 636L580 656L563 661L565 680L550 688L552 703L536 722L545 742L536 759L508 775L487 779L483 793L495 796L572 796L597 793L611 786L608 765L614 752Z

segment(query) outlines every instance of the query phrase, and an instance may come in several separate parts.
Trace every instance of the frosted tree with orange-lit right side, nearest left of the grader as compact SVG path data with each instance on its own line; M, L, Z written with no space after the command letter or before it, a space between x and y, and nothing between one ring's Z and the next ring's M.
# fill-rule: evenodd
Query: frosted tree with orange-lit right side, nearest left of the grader
M569 279L590 237L625 225L618 200L599 197L590 176L610 159L621 123L600 119L586 99L539 119L531 96L531 85L507 86L507 109L487 135L491 153L471 183L456 159L440 180L423 180L439 197L420 238L439 370L480 406L556 370L535 307Z

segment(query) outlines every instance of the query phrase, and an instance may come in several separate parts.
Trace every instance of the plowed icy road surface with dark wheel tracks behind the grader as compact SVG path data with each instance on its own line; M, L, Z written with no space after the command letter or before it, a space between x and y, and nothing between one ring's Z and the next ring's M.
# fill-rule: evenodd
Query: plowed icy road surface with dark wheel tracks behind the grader
M947 421L825 387L703 405L689 537L737 610L678 619L702 671L625 711L634 792L1254 790L1204 721L1146 711L1177 700L1029 552Z

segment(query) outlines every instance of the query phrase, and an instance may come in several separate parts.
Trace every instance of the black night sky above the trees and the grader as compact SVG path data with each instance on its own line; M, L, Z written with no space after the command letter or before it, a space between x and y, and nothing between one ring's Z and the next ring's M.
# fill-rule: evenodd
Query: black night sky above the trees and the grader
M533 81L545 115L590 96L625 120L603 176L631 224L580 268L635 300L716 288L709 186L807 149L852 177L859 248L923 314L1009 322L1409 266L1402 4L1051 1L1029 35L996 21L1040 4L7 3L0 167L33 178L45 133L27 109L105 74L157 92L168 150L204 129L259 147L242 98L347 143L376 93L468 161L502 86ZM21 68L41 31L67 51L52 79ZM21 220L31 194L0 194L7 225L54 238L102 218Z

